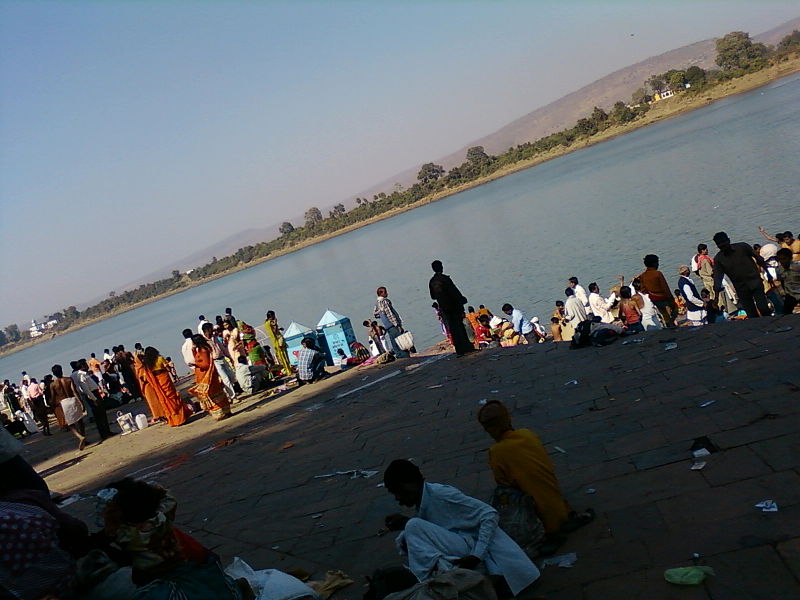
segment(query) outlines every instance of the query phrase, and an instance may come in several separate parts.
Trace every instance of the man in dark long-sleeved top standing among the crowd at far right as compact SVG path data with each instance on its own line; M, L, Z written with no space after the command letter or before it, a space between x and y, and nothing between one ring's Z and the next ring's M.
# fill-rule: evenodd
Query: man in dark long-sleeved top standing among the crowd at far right
M714 235L714 243L720 250L714 257L714 291L716 293L722 291L722 279L727 275L730 277L736 295L739 296L739 303L749 319L771 315L772 311L767 304L764 284L758 270L758 267L764 269L767 280L772 283L772 276L767 270L764 259L753 250L750 244L744 242L732 244L728 234L724 231Z

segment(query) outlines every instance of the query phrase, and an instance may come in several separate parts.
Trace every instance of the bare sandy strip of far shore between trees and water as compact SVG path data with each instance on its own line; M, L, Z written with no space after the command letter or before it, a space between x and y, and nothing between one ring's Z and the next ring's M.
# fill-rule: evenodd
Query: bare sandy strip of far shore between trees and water
M205 278L203 280L191 282L188 285L186 285L185 287L182 287L182 288L180 288L178 290L165 292L163 294L159 294L157 296L153 296L152 298L148 298L147 300L143 300L141 302L137 302L135 304L128 305L128 306L126 306L124 308L120 308L118 310L115 310L115 311L107 313L105 315L96 317L94 319L90 319L90 320L87 320L85 322L81 322L81 323L76 324L74 326L68 327L67 329L65 329L63 331L59 331L58 333L50 334L50 335L45 334L45 335L43 335L41 337L37 337L37 338L31 339L31 340L25 342L24 344L15 345L14 347L8 348L6 350L0 349L0 358L4 358L6 356L10 356L10 355L12 355L12 354L14 354L16 352L21 352L23 350L27 350L28 348L31 348L31 347L33 347L35 345L38 345L38 344L42 344L42 343L46 343L46 342L52 341L53 339L56 339L57 337L60 337L62 335L73 333L75 331L78 331L79 329L83 329L84 327L88 327L90 325L95 325L97 323L100 323L101 321L105 321L105 320L111 319L113 317L119 316L121 314L124 314L126 312L129 312L131 310L135 310L137 308L141 308L142 306L146 306L146 305L148 305L148 304L150 304L152 302L157 302L159 300L163 300L164 298L168 298L170 296L181 294L181 293L186 292L188 290L194 289L194 288L199 287L201 285L205 285L207 283L210 283L212 281L220 279L222 277L227 277L229 275L233 275L233 274L238 273L240 271L243 271L245 269L249 269L249 268L261 265L261 264L263 264L263 263L265 263L267 261L274 260L276 258L280 258L282 256L286 256L287 254L291 254L293 252L297 252L299 250L303 250L303 249L308 248L310 246L326 242L326 241L328 241L328 240L330 240L332 238L335 238L335 237L338 237L338 236L341 236L341 235L346 235L346 234L348 234L348 233L350 233L352 231L355 231L356 229L361 229L363 227L368 227L368 226L370 226L370 225L372 225L374 223L377 223L379 221L383 221L385 219L390 219L390 218L392 218L394 216L397 216L399 214L405 213L405 212L410 211L410 210L414 210L415 208L419 208L421 206L425 206L427 204L431 204L433 202L437 202L439 200L442 200L444 198L459 194L461 192L465 192L467 190L471 190L471 189L480 187L482 185L486 185L487 183L491 183L493 181L497 181L498 179L502 179L503 177L507 177L509 175L513 175L513 174L518 173L520 171L524 171L526 169L533 168L533 167L535 167L537 165L540 165L542 163L548 162L550 160L553 160L553 159L556 159L556 158L560 158L562 156L566 156L567 154L570 154L572 152L576 152L578 150L583 150L585 148L589 148L591 146L594 146L594 145L597 145L597 144L601 144L603 142L607 142L609 140L612 140L614 138L617 138L619 136L622 136L622 135L625 135L625 134L628 134L628 133L632 133L634 131L637 131L639 129L642 129L644 127L652 125L654 123L661 122L661 121L664 121L664 120L667 120L667 119L671 119L673 117L677 117L677 116L686 114L688 112L692 112L694 110L703 108L703 107L708 106L710 104L714 104L715 102L718 102L718 101L723 100L725 98L738 96L740 94L744 94L746 92L750 92L750 91L758 89L760 87L764 87L764 86L769 85L770 83L773 83L773 82L778 81L780 79L783 79L783 78L786 78L786 77L790 77L790 76L792 76L794 74L797 74L798 72L800 72L800 56L795 56L794 58L786 60L785 62L783 62L781 64L773 65L773 66L767 67L767 68L765 68L765 69L763 69L761 71L757 71L755 73L750 73L750 74L744 75L742 77L739 77L737 79L732 79L732 80L726 81L724 83L720 83L720 84L714 86L713 88L711 88L709 90L706 90L704 92L700 92L698 94L692 94L692 93L685 92L685 93L682 93L682 94L680 94L678 96L675 96L673 98L670 98L670 99L667 99L667 100L661 100L660 102L654 103L653 105L651 105L650 110L644 115L644 117L642 117L640 120L635 121L633 123L629 123L629 124L622 125L622 126L610 127L608 129L604 130L603 132L598 133L595 136L592 136L591 138L584 138L582 140L576 141L572 145L570 145L569 147L560 147L560 148L557 148L557 149L552 150L550 152L545 152L545 153L542 153L540 155L537 155L536 157L531 158L529 160L520 161L520 162L518 162L518 163L516 163L514 165L510 165L510 166L508 166L506 168L499 169L498 171L495 171L491 175L487 175L485 177L481 177L480 179L476 179L474 181L471 181L469 183L460 185L458 187L450 188L450 189L447 189L447 190L444 190L444 191L437 192L437 193L432 194L430 196L426 196L425 198L422 198L422 199L420 199L419 201L417 201L417 202L415 202L413 204L409 204L407 206L403 206L403 207L399 207L399 208L393 208L393 209L388 210L388 211L386 211L384 213L381 213L379 215L375 215L373 217L370 217L369 219L365 219L364 221L360 221L358 223L353 223L352 225L348 225L346 227L343 227L342 229L339 229L339 230L337 230L335 232L326 233L326 234L323 234L323 235L320 235L320 236L316 236L316 237L308 239L308 240L304 240L304 241L302 241L302 242L300 242L300 243L298 243L298 244L296 244L294 246L291 246L291 247L283 249L283 250L279 250L279 251L277 251L274 254L271 254L269 256L265 256L263 258L255 259L255 260L253 260L253 261L251 261L249 263L246 263L246 264L240 264L240 265L238 265L238 266L236 266L236 267L234 267L234 268L232 268L232 269L230 269L230 270L228 270L228 271L226 271L224 273L218 273L218 274L213 275L211 277L207 277L207 278ZM687 97L687 94L691 94L691 96Z

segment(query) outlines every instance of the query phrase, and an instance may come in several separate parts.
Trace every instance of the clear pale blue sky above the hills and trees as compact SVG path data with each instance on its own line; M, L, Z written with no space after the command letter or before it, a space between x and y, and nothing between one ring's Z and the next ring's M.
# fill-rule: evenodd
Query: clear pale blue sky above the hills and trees
M352 199L649 56L797 16L797 0L0 2L0 326Z

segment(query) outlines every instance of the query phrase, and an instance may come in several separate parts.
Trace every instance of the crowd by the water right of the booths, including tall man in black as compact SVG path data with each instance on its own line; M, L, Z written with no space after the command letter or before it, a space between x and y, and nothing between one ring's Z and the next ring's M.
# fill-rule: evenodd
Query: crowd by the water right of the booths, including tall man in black
M503 304L498 315L484 305L477 311L472 306L464 310L466 299L442 275L439 261L433 265L431 279L431 297L436 300L433 309L442 333L459 356L480 348L546 341L571 342L573 347L600 345L619 335L662 328L791 314L800 301L800 240L790 231L770 236L759 229L780 247L775 243L733 243L725 232L719 232L713 237L716 255L709 254L706 244L698 244L691 266L677 268L674 287L660 270L655 254L644 257L644 270L629 283L620 275L619 284L607 296L596 282L587 286L587 292L577 277L570 277L565 299L555 302L549 332L538 317L528 320L510 303Z

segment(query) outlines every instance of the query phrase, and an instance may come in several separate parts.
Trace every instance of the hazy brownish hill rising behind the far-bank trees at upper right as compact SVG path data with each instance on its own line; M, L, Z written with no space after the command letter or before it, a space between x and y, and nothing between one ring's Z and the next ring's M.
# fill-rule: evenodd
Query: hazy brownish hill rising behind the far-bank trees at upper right
M800 29L800 17L752 37L764 44L775 45L795 29ZM651 75L663 73L669 69L688 68L692 65L709 69L715 67L715 58L715 39L703 40L650 57L614 71L571 94L537 108L494 133L466 144L452 154L434 159L434 162L448 169L461 164L464 162L467 148L472 146L483 146L489 154L505 152L512 146L537 140L566 127L572 127L578 119L589 115L595 106L608 109L617 100L630 102L631 94L642 87L644 81ZM425 157L423 159L420 160L420 165L430 160ZM419 166L408 169L357 195L369 198L379 192L388 193L393 189L395 183L403 185L415 183L418 172Z

